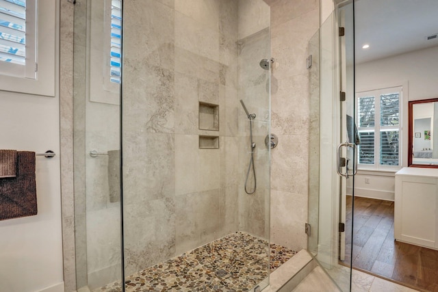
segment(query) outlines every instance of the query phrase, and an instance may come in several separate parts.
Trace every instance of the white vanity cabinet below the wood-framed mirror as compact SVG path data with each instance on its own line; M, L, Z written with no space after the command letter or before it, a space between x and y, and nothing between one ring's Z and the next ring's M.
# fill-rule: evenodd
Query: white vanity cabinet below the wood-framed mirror
M396 173L394 237L438 250L438 169L402 168Z

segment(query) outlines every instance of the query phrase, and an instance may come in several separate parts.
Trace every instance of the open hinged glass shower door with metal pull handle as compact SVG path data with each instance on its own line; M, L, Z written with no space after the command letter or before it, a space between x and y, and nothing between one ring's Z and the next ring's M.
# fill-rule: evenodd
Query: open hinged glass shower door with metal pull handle
M309 42L308 250L342 291L351 287L350 202L357 167L352 21L352 2L339 4Z

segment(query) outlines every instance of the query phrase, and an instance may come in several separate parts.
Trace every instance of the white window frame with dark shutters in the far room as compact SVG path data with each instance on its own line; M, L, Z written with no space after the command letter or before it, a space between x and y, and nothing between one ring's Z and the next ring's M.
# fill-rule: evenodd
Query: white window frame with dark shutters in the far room
M381 126L381 95L383 94L391 94L398 92L399 100L398 100L398 127L395 126ZM374 96L374 127L360 127L359 123L359 98ZM358 126L358 131L364 132L370 131L374 129L374 163L365 164L359 163L359 157L357 162L358 170L384 170L384 171L397 171L402 168L403 163L403 155L402 155L402 144L404 141L403 136L403 86L397 85L388 88L380 88L374 90L364 90L356 93L355 97L355 120ZM398 131L398 165L381 165L381 132L382 131ZM360 145L359 145L360 147ZM359 155L359 153L358 153Z

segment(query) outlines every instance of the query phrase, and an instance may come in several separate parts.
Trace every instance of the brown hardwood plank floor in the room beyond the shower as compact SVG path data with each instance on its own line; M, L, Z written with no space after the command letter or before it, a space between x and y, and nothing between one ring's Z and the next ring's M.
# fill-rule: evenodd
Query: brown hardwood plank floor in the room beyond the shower
M438 250L394 241L394 202L347 197L346 254L343 262L423 291L438 292Z

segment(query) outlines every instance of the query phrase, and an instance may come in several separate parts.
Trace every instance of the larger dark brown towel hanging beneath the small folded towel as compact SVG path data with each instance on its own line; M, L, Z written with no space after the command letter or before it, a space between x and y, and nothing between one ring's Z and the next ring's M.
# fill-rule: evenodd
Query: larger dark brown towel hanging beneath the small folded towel
M17 152L16 178L0 179L0 220L36 215L35 152Z

